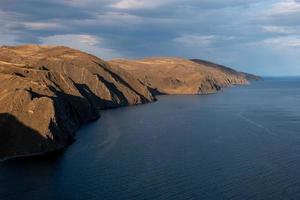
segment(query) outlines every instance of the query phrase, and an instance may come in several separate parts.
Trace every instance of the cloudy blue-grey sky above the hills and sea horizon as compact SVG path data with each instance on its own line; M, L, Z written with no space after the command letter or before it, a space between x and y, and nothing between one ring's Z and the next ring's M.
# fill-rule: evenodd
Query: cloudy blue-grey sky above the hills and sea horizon
M0 0L0 44L28 43L297 76L300 0Z

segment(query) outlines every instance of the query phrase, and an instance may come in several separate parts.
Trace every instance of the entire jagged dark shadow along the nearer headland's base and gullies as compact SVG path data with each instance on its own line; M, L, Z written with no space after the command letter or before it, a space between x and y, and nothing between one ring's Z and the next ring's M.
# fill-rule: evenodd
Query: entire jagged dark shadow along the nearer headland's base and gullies
M51 121L49 130L53 133L54 140L43 137L13 115L0 113L0 160L8 158L20 160L24 157L26 160L40 159L42 156L45 158L45 155L48 159L49 156L56 156L57 152L60 153L64 147L74 141L75 131L82 124L100 117L100 110L129 104L125 95L114 84L101 77L98 78L111 90L115 99L101 99L85 84L74 83L82 96L67 94L59 86L49 86L56 96L47 96L28 89L32 99L47 97L53 100L56 123Z

